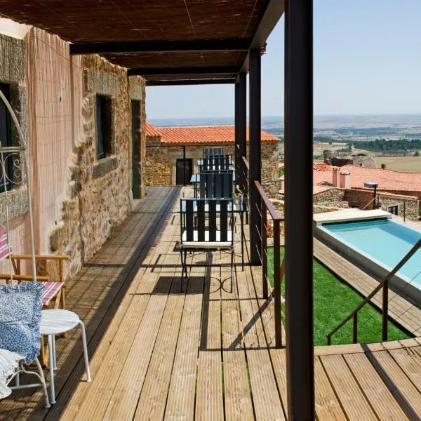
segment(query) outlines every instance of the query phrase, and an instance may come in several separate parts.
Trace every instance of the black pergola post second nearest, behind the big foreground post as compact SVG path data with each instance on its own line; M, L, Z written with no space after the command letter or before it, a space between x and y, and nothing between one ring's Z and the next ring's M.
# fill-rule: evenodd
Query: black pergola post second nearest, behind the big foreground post
M260 156L260 50L250 50L250 147L249 147L249 170L248 194L250 203L250 263L251 265L261 265L260 250L262 250L262 206L260 203L260 194L255 186L255 181L260 182L262 159Z

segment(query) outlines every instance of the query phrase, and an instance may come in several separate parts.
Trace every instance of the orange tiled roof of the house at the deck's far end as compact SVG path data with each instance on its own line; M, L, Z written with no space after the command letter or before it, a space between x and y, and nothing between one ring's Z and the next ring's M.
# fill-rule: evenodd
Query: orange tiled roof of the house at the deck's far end
M197 143L220 144L234 143L234 126L191 126L191 127L159 127L162 143L185 145ZM248 130L247 141L248 141ZM274 135L262 131L262 142L277 142Z

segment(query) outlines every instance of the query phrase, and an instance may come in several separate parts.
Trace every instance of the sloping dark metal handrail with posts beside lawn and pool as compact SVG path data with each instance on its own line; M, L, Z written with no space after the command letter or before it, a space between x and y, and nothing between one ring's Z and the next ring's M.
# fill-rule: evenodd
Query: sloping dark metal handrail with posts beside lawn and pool
M326 335L328 345L331 345L332 335L336 333L342 326L345 325L349 320L352 319L352 342L355 344L358 342L358 312L382 289L382 340L387 340L387 321L388 321L388 310L389 310L389 281L396 274L396 272L405 265L406 262L416 253L418 248L421 247L421 239L415 243L415 246L411 248L403 259L392 269L391 272L386 276L385 279L380 281L379 285L361 302L345 319L343 319L338 326Z

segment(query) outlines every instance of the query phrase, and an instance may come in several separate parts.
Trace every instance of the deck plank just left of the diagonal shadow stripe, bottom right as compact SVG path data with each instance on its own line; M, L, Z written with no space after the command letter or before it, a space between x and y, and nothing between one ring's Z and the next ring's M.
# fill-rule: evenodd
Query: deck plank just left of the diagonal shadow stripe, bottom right
M365 354L347 354L344 358L380 420L408 420Z

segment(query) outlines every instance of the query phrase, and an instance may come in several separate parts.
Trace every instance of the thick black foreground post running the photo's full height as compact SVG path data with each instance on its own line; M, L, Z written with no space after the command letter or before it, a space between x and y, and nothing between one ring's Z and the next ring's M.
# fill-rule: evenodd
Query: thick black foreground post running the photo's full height
M286 0L285 6L288 419L313 421L313 1Z

